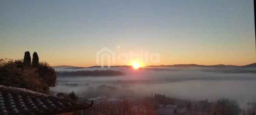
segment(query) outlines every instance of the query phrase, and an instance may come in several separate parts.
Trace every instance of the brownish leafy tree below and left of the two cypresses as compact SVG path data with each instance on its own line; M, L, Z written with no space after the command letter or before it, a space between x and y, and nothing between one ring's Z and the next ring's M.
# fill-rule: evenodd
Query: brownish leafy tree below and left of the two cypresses
M22 60L2 61L0 66L0 84L48 93L49 86L39 78L36 68L24 67Z

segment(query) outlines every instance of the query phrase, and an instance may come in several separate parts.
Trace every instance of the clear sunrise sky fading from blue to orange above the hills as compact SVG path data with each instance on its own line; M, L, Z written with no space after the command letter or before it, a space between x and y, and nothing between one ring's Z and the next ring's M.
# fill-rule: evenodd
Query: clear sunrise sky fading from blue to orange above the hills
M86 67L107 48L113 65L141 52L159 57L143 65L246 65L256 62L253 11L252 0L1 0L0 58L30 51Z

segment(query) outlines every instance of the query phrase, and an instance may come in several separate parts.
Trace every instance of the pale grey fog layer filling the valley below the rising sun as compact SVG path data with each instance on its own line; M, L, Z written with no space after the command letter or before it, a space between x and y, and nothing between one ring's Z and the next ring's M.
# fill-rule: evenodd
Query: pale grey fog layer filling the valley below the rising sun
M256 101L255 68L83 68L56 69L57 71L77 70L119 70L124 76L115 77L57 77L53 91L74 91L80 96L86 87L97 87L102 84L130 89L135 95L151 96L151 93L166 96L201 100L232 98L240 104ZM124 85L126 87L124 88Z

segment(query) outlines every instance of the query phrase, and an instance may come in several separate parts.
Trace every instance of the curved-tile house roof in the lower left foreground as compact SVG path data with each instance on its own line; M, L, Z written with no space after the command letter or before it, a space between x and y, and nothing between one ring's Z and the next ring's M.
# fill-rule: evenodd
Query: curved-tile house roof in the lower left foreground
M52 115L88 109L91 104L0 85L0 115Z

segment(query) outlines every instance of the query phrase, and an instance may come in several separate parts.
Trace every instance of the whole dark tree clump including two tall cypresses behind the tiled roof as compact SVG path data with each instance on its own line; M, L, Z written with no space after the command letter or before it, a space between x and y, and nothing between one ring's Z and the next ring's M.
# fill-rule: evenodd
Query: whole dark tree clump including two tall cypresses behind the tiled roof
M55 70L46 62L39 62L36 52L25 52L23 60L0 59L0 84L48 93L55 86Z

